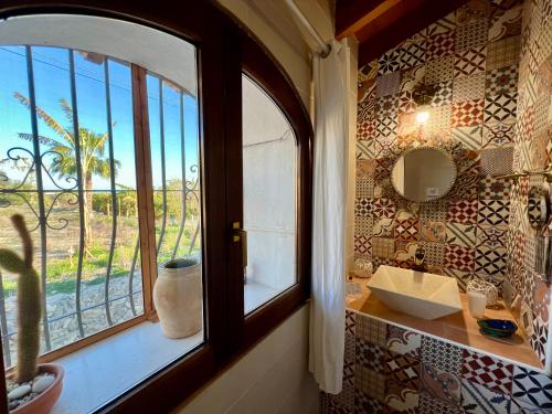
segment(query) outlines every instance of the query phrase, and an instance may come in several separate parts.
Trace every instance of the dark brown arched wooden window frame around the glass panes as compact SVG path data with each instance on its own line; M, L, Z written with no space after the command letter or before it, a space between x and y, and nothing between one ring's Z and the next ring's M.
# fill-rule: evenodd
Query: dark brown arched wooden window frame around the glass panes
M214 2L26 0L22 4L18 0L4 0L0 4L0 19L40 13L85 14L126 20L164 31L198 47L204 342L102 410L121 413L170 411L230 367L309 297L312 176L312 128L309 116L289 77L272 54L251 32L226 15ZM236 193L243 193L241 168L237 173L235 169L241 166L242 157L242 73L257 82L286 116L298 140L299 161L297 284L247 317L243 314L241 246L230 243L231 223L236 219L242 221L243 205L242 201L227 201ZM141 76L145 77L145 70L132 65L132 102L144 112L145 108L147 110L146 92L135 87L135 82L145 85L145 79L140 81ZM147 117L140 117L138 123L135 117L135 136L140 137L136 142L136 152L142 156L137 160L138 168L145 171L139 177L149 177L151 180L151 174L148 173L148 168L151 169L147 153L148 131ZM148 243L148 252L151 252L152 247L155 250L155 232L151 231L155 223L152 209L147 208L148 200L151 200L151 194L148 194L148 191L152 190L151 182L139 182L138 187L142 193L139 195L139 200L142 200L139 201L139 209L148 210L151 215L144 224L147 234L141 234L140 224L140 237L144 238L142 243ZM140 203L146 206L140 206ZM146 289L151 289L155 283L156 269L151 268L156 263L155 258L155 251L146 259L142 257L142 268L144 263L149 263L149 270L146 270L149 272L149 285L146 286L145 282L145 296ZM155 317L152 304L145 305L144 320ZM137 321L139 318L142 317L110 329L120 331L140 322L141 319ZM98 335L87 337L79 343L92 341ZM66 347L70 348L71 346ZM3 370L1 359L0 369ZM161 392L163 399L159 400L156 396ZM7 405L3 381L0 385L0 406L2 404Z

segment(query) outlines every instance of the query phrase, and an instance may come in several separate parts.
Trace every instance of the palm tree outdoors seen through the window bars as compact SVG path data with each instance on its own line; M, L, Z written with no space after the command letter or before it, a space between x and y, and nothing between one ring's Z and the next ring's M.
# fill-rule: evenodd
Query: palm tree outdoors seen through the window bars
M21 104L31 108L31 102L25 96L21 95L19 92L13 94L15 99ZM79 145L81 150L81 171L82 181L84 190L84 234L85 234L85 246L84 250L89 254L88 246L92 243L92 229L91 219L93 214L92 209L92 177L99 176L102 178L109 178L112 173L117 174L117 169L120 162L114 160L114 171L109 166L109 158L105 157L106 142L109 138L108 132L96 134L87 128L78 128L78 141L75 141L72 124L73 124L73 108L64 99L60 99L60 105L62 107L70 127L63 127L61 123L50 116L44 109L35 107L36 115L61 138L61 140L39 137L41 144L50 147L51 151L57 152L63 157L53 162L51 166L51 173L56 174L59 178L63 177L76 177L77 164L76 164L76 142ZM30 134L19 134L19 137L26 140L32 140L33 136Z

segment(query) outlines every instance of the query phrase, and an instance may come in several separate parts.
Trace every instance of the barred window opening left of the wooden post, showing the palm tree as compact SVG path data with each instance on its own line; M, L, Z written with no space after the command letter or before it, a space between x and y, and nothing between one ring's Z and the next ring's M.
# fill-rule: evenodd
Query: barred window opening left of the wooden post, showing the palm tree
M45 353L144 312L130 67L61 47L3 46L0 55L0 247L20 252L10 217L23 214L42 284ZM1 280L11 367L17 275L3 269Z

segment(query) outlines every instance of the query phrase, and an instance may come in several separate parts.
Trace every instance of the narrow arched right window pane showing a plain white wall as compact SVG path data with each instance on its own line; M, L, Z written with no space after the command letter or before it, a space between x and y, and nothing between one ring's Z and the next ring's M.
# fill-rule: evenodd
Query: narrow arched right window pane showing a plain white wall
M295 134L282 110L243 76L246 314L297 280L296 153Z

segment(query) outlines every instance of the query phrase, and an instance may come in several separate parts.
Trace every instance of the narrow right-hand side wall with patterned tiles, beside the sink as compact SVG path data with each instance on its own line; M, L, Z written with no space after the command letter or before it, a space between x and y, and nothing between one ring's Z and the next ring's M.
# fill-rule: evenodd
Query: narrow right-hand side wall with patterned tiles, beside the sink
M552 2L527 0L523 6L518 119L513 135L513 169L542 170L552 162ZM521 179L511 192L509 280L514 316L529 335L542 362L546 359L550 287L543 282L543 233L527 220L528 191L541 178ZM552 198L551 198L552 201ZM550 270L549 270L550 272ZM551 277L552 275L548 275ZM552 355L548 355L548 367Z

